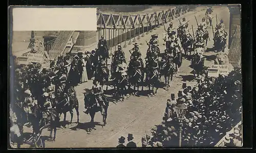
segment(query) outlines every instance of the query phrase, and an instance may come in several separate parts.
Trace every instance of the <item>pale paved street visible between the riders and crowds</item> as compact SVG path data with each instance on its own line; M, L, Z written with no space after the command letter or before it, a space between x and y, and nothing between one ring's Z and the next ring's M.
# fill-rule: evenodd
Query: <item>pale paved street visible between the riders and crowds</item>
M183 15L186 17L186 20L189 20L188 24L191 28L191 25L194 27L194 33L197 29L197 23L195 20L195 16L197 20L200 22L202 17L204 17L205 10L203 11L195 11L195 12L188 12L187 14ZM218 22L220 21L221 17L225 23L225 30L228 32L229 28L229 11L227 7L214 7L213 15L217 14ZM182 19L182 18L181 18ZM172 21L175 26L179 25L179 21L177 19ZM216 24L216 18L213 19L212 24ZM165 24L167 29L168 24ZM145 37L141 37L141 39L136 39L137 43L142 43L140 45L140 51L142 52L142 59L144 60L147 45L145 41L149 41L152 34L159 35L159 47L160 50L164 50L165 46L163 46L162 40L162 31L163 26L161 26L157 30L153 30L152 33L145 35ZM191 31L192 32L192 31ZM208 42L207 47L211 48L213 41L213 35L211 28L208 29L210 42ZM127 43L126 43L127 44ZM130 58L129 49L131 49L133 45L127 45L124 48L125 57L128 62ZM214 55L212 52L205 53L206 56ZM109 61L108 63L111 63ZM205 65L212 64L213 61L206 60ZM161 123L162 117L164 114L165 106L166 106L166 99L169 98L171 93L175 93L177 97L178 90L180 90L182 83L186 82L187 85L195 85L196 83L192 81L189 75L193 75L190 72L193 70L188 67L190 61L183 59L182 66L180 68L180 72L174 77L172 82L172 87L169 91L164 89L159 89L158 93L154 97L147 97L147 96L130 96L128 99L125 99L123 102L119 102L118 104L110 104L108 110L108 118L106 120L106 126L102 127L102 116L100 112L95 115L94 121L96 122L96 130L93 130L91 134L87 134L86 127L90 122L90 115L84 114L84 102L83 102L83 92L85 88L91 89L92 81L88 83L83 83L77 86L75 89L77 91L78 100L79 100L79 113L80 113L80 124L76 126L75 123L67 127L66 129L57 130L56 141L55 142L46 142L46 147L50 148L59 148L59 147L116 147L118 145L118 138L120 136L127 137L128 133L132 133L133 137L135 138L135 142L137 146L141 146L141 137L144 136L146 133L150 132L155 125ZM164 79L162 79L164 81ZM104 87L105 89L105 87ZM147 90L147 88L144 88ZM61 120L63 116L61 116ZM70 120L70 114L67 114L67 120ZM74 119L76 121L76 113L74 112ZM74 128L74 127L77 128ZM44 130L42 135L48 136L49 131ZM125 144L124 144L125 145Z

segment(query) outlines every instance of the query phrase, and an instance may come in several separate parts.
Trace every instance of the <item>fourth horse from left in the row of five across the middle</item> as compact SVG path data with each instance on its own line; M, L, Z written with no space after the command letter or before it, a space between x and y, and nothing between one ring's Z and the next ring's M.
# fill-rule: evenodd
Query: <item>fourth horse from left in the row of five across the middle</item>
M153 69L153 67L158 67L158 63L155 63L155 64L157 64L157 66L155 66L155 64L152 63L152 61L149 64L150 65L148 65L146 68L146 79L145 79L145 83L147 84L148 91L150 91L148 96L156 95L157 90L158 90L158 86L156 86L156 85L160 83L158 71L156 69ZM151 86L152 86L152 91L150 88ZM156 91L154 91L155 87L156 87Z

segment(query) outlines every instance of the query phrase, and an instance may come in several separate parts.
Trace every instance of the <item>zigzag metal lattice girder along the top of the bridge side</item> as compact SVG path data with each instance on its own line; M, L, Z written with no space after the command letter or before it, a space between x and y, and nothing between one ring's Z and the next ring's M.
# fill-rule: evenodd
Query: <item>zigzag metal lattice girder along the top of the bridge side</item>
M97 12L97 28L100 29L135 29L160 25L174 19L175 15L186 12L188 6L178 6L168 10L147 14L108 14Z

